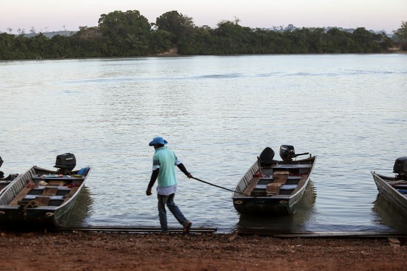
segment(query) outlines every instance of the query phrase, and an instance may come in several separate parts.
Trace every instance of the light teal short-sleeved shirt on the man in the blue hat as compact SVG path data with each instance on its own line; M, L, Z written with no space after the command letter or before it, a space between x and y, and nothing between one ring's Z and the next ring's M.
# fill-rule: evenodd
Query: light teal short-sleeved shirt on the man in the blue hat
M153 156L153 170L159 168L158 172L158 187L168 187L177 184L175 175L175 166L177 164L177 156L172 150L167 147L156 149Z

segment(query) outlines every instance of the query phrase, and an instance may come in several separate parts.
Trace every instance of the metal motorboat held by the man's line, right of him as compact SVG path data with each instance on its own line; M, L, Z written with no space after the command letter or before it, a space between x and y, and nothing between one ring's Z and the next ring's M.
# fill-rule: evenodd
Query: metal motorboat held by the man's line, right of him
M280 146L282 161L273 160L274 150L266 147L241 177L232 194L241 214L294 214L309 184L316 156L294 160L292 145Z

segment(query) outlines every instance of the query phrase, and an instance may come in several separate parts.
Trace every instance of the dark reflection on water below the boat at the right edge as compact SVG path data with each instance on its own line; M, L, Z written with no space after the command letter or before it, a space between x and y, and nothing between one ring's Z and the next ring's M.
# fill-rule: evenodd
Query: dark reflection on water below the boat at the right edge
M382 194L377 194L372 207L374 224L383 225L389 231L407 234L407 217L400 213Z

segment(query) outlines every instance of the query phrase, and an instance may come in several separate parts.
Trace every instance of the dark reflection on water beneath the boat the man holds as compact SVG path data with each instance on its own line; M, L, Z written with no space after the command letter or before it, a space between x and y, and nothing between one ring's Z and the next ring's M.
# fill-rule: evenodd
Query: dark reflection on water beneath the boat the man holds
M310 181L304 191L297 212L294 215L278 215L275 217L240 215L236 231L240 233L294 233L307 231L315 203L314 185Z

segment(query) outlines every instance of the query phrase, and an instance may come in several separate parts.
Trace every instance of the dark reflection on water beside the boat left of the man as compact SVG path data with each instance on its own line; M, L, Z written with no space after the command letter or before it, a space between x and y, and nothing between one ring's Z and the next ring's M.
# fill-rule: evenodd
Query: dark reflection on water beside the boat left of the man
M86 219L91 216L93 200L87 187L84 187L71 209L65 227L86 227Z

